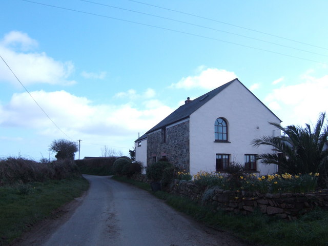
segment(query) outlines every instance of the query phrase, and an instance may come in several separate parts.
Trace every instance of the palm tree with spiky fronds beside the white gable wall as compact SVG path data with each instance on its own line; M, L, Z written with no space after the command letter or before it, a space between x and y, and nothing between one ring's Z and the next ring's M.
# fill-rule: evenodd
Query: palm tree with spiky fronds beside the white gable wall
M254 147L269 145L277 154L260 154L258 159L263 163L274 163L280 171L291 174L320 173L321 185L328 185L328 125L325 123L325 113L320 113L317 124L311 129L300 126L281 127L269 122L282 132L281 137L263 136L254 139Z

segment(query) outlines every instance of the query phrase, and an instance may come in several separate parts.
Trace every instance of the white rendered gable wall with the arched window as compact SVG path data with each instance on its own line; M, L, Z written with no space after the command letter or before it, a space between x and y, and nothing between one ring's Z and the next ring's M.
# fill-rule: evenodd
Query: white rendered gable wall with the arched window
M228 123L228 141L214 142L215 120L223 117ZM216 171L216 154L230 154L230 161L244 165L244 154L273 152L270 146L252 147L254 138L279 136L270 122L280 123L239 81L235 81L190 116L190 173ZM276 165L257 161L259 175L277 172Z

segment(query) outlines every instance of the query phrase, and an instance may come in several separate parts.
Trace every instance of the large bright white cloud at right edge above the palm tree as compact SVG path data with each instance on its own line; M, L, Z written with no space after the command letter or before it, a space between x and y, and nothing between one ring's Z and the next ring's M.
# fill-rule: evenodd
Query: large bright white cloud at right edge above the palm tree
M328 75L320 78L302 76L301 83L273 90L264 102L283 120L282 125L315 123L322 111L328 112Z

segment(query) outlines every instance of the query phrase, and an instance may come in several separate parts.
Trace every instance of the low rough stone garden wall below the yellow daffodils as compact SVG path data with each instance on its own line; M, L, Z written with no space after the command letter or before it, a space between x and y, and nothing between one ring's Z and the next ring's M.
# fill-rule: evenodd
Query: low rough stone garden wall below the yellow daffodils
M295 219L315 207L328 209L328 189L311 193L261 194L259 192L237 192L218 188L201 188L192 181L174 180L170 192L188 197L213 210L224 210L248 214L255 210L281 219Z

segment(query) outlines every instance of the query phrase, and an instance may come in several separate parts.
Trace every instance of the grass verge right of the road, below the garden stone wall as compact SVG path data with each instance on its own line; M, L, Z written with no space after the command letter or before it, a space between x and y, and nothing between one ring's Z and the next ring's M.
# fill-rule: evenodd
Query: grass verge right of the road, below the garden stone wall
M118 181L131 183L151 191L149 184L125 177L113 177ZM222 211L211 212L210 207L200 206L188 198L167 192L157 191L156 197L176 210L188 214L198 221L219 230L233 232L239 238L251 244L265 245L328 245L328 211L314 210L298 220L285 221L255 212L251 215L236 215Z

